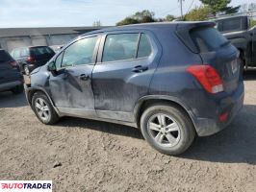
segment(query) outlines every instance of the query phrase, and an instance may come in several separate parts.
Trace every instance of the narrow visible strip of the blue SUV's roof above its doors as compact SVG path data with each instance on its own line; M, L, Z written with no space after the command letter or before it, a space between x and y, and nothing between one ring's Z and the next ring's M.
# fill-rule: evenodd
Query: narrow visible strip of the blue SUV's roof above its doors
M176 29L177 25L179 26L190 26L190 25L201 25L201 24L214 24L212 21L175 21L175 22L154 22L154 23L141 23L141 24L132 24L132 25L123 25L117 27L109 27L101 30L92 31L82 36L89 36L93 34L100 34L105 32L112 31L122 31L122 30L156 30L164 27L170 27Z

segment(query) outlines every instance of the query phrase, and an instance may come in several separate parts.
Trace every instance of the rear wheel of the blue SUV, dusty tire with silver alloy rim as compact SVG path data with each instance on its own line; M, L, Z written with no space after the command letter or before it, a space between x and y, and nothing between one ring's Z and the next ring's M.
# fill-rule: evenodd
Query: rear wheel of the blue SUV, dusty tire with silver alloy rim
M160 126L163 124L160 122L163 122L163 119L166 127ZM165 103L153 105L144 110L141 115L141 133L154 149L171 156L184 153L192 145L195 136L189 115L182 109Z

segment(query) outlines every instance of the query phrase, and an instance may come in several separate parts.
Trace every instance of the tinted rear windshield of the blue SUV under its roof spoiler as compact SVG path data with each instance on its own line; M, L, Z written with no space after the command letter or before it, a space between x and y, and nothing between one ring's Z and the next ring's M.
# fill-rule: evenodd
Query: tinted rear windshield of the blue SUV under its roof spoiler
M191 36L200 52L215 51L228 43L228 40L213 27L194 29Z

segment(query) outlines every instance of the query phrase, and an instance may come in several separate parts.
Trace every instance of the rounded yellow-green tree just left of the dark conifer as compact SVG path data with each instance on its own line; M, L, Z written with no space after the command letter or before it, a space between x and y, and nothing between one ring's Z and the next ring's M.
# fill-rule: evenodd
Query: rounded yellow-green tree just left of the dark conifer
M187 13L184 17L186 21L203 21L207 20L209 15L212 13L212 9L208 6L200 6L192 9L191 12Z

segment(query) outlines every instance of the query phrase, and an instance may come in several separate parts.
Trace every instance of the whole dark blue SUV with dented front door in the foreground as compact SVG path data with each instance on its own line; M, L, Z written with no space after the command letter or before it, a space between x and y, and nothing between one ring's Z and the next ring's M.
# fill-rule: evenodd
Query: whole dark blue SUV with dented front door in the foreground
M239 52L213 22L131 25L79 36L26 81L44 124L77 116L141 129L168 155L243 107Z

